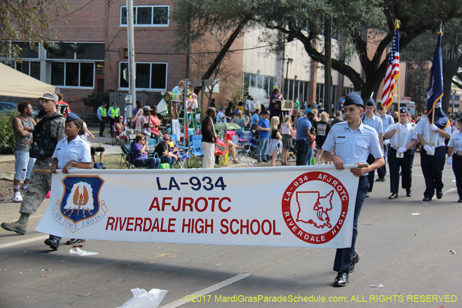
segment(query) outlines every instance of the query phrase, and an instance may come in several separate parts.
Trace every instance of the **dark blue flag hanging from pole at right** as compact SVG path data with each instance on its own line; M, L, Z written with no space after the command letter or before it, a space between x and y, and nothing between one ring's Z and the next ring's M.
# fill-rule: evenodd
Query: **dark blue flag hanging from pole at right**
M435 55L433 56L432 70L430 71L427 98L427 117L430 123L435 124L440 129L444 129L446 126L448 126L449 120L445 112L441 110L441 98L443 96L441 35L442 33L439 32L438 40L436 41Z

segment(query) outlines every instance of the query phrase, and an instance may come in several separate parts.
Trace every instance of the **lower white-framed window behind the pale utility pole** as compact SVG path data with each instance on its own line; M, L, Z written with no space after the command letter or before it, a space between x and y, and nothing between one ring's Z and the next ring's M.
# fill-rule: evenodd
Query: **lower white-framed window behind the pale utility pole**
M120 63L119 87L128 88L128 82L124 79L124 70L127 63ZM136 88L151 91L167 89L167 63L136 63Z

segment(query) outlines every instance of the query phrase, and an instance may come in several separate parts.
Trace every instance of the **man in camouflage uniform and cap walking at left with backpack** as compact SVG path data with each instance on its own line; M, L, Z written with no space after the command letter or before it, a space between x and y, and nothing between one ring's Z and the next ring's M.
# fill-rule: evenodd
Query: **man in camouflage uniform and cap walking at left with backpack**
M45 115L41 121L61 114L59 111L56 111L56 103L58 101L56 94L45 93L43 97L39 98L39 100L42 100L43 108L47 112L47 115ZM66 138L66 134L64 133L65 121L66 118L64 117L50 120L49 131L51 138L58 141ZM50 157L37 159L35 161L34 167L32 168L29 187L27 189L26 195L23 198L23 202L21 203L21 217L18 221L12 223L3 222L1 224L2 228L8 231L16 232L18 234L26 234L26 227L29 216L35 214L37 208L42 204L43 200L45 200L48 191L51 189L51 173L39 173L35 172L35 169L49 169L51 162L51 155Z

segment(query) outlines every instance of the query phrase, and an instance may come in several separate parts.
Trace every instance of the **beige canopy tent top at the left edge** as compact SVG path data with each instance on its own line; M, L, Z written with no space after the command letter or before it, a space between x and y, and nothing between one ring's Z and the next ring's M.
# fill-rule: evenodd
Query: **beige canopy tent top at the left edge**
M40 98L44 93L54 91L54 86L0 63L0 95Z

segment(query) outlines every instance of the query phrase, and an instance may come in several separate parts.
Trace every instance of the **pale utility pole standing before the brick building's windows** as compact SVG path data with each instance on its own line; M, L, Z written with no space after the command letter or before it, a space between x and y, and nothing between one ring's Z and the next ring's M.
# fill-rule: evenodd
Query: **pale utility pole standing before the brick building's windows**
M128 87L129 87L129 104L127 105L127 114L131 117L133 102L137 100L136 75L134 63L134 30L133 30L133 0L127 0L127 36L128 36ZM125 117L127 117L125 114Z

